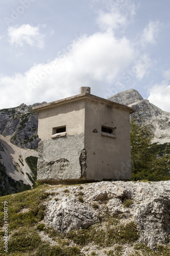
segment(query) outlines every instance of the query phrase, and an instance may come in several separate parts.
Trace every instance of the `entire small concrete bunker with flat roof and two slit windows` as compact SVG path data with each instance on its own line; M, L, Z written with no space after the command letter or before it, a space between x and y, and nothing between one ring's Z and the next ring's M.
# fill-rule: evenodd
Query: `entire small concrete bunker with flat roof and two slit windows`
M129 180L134 110L90 94L34 107L39 113L39 182Z

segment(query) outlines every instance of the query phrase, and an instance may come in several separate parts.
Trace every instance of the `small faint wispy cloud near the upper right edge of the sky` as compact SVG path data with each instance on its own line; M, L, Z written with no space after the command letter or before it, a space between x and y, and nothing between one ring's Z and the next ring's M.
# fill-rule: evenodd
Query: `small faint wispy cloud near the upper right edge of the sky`
M144 29L141 35L141 43L145 44L155 44L156 38L159 33L161 24L158 21L151 21Z

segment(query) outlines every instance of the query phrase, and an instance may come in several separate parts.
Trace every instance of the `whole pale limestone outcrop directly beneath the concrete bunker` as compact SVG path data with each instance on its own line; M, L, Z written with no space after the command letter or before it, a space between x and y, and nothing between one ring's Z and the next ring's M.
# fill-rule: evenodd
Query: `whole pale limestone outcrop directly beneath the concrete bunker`
M47 203L44 221L60 232L87 228L99 222L98 216L106 211L110 216L122 216L122 223L134 221L139 230L139 240L154 249L158 244L167 244L170 235L170 181L160 182L98 182L83 185L83 200L76 195L79 186L53 188L57 202L52 198ZM131 200L128 207L125 200ZM94 209L93 204L99 208Z

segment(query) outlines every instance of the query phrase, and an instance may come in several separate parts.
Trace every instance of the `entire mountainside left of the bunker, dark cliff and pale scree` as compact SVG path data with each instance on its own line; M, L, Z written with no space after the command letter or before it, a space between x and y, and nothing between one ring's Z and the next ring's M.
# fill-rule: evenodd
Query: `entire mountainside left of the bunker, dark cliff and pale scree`
M0 195L30 189L35 183L36 170L28 161L38 157L33 150L39 142L38 115L32 110L37 104L0 110Z

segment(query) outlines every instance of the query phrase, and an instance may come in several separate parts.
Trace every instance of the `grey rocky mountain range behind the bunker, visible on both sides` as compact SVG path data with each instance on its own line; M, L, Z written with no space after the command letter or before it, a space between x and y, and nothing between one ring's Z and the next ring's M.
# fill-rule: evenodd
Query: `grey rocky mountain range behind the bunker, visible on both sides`
M170 142L170 113L143 99L134 89L108 98L136 110L139 123L149 125L155 134L153 142ZM39 138L38 114L33 105L0 110L0 196L30 189L36 181Z

